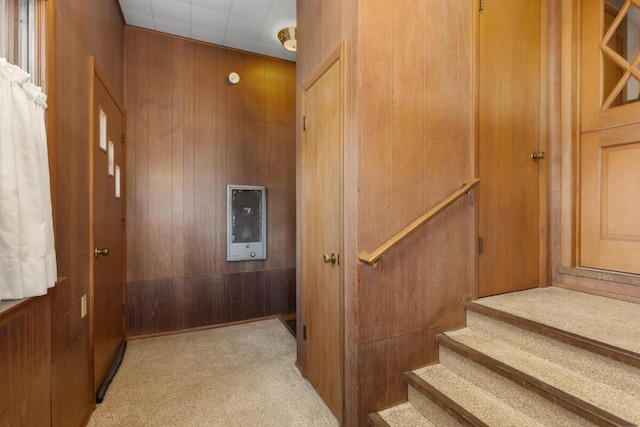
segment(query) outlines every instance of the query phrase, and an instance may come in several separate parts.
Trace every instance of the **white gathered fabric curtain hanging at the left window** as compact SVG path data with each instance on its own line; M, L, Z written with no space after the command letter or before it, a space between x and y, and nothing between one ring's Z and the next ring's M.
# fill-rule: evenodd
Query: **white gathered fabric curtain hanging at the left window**
M57 279L46 100L0 58L0 301L44 295Z

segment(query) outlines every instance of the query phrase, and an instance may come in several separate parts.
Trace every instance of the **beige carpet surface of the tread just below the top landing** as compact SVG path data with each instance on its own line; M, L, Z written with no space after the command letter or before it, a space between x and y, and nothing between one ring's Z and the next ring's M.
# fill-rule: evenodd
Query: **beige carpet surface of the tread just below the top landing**
M463 328L447 336L491 358L594 406L634 423L640 423L640 399L522 348L505 344L487 333Z

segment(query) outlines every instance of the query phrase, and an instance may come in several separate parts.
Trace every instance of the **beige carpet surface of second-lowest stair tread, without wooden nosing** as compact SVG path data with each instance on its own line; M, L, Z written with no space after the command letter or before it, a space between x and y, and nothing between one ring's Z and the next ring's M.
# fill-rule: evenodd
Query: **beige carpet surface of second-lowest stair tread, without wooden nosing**
M542 426L443 365L430 365L413 372L487 425Z

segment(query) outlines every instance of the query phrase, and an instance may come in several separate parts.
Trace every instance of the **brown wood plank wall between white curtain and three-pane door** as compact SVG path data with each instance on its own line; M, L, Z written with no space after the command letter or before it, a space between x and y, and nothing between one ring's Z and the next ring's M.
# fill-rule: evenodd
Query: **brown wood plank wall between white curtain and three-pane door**
M54 1L56 13L56 250L58 275L52 289L52 425L82 425L94 407L89 316L80 298L89 293L89 57L123 99L124 23L113 0Z

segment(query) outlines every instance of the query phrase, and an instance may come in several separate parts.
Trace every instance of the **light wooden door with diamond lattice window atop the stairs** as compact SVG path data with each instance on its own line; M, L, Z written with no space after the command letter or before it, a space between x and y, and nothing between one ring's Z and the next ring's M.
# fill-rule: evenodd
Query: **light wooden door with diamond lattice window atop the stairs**
M578 264L640 274L640 8L581 7Z

